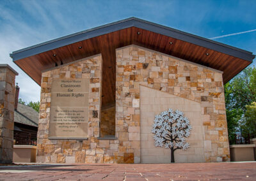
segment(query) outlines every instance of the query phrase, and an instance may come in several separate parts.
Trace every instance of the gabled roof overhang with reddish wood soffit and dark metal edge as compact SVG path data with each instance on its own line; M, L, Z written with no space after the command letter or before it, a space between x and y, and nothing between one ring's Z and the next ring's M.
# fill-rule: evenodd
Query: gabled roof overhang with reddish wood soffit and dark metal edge
M103 71L108 72L102 80L102 95L106 95L115 92L115 49L127 45L139 45L218 69L223 71L224 83L255 58L252 52L134 17L17 50L10 56L40 85L42 71L60 65L61 61L66 64L102 54ZM111 92L104 92L104 87ZM102 104L113 101L115 95L102 98Z

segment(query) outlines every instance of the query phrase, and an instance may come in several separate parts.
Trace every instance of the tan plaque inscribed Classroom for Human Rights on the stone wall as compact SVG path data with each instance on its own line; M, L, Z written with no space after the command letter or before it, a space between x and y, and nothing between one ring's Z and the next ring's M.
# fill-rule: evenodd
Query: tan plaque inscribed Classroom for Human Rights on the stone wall
M88 137L89 80L52 80L49 138Z

